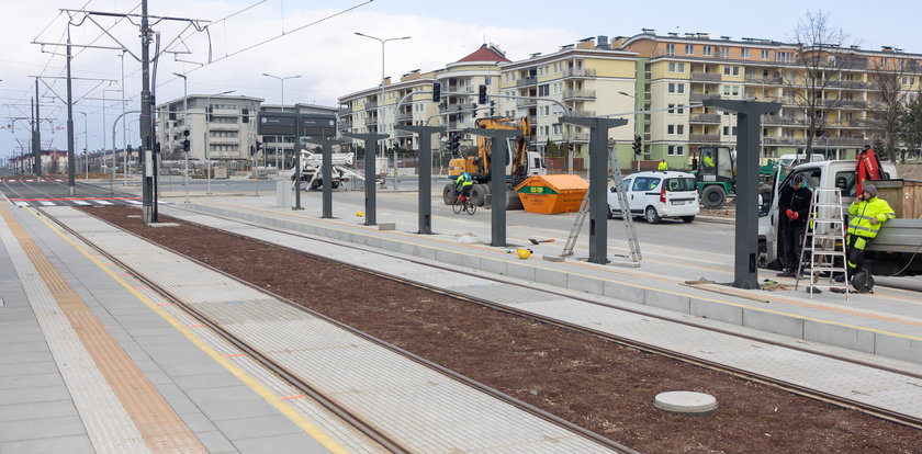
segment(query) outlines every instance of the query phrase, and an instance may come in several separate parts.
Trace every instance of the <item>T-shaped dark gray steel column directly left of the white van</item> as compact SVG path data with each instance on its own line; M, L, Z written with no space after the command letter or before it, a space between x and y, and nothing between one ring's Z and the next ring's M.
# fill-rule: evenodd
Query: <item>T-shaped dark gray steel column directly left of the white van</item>
M625 118L563 116L562 123L589 128L589 262L608 263L608 129ZM612 151L615 152L615 151Z

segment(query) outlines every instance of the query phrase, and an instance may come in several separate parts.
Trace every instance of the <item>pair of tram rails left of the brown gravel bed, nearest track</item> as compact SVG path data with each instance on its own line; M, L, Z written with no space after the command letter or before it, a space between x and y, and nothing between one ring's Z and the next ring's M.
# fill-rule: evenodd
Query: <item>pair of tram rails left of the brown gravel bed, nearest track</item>
M246 353L252 360L255 360L256 362L261 364L263 367L266 367L267 370L274 373L280 378L284 379L291 386L293 386L294 388L296 388L301 393L303 393L305 396L310 396L311 398L316 400L319 405L322 405L324 408L329 410L333 415L340 418L342 421L345 421L349 425L356 428L356 430L358 430L361 434L363 434L363 435L368 436L369 439L373 440L375 443L380 444L385 450L387 450L387 452L395 453L395 454L404 454L404 453L409 454L409 453L415 452L414 450L404 446L400 441L394 440L391 436L382 433L380 430L378 430L375 428L375 424L372 421L366 421L360 415L352 413L348 408L346 408L344 406L340 406L336 401L336 399L326 396L323 391L316 389L313 385L311 385L310 383L302 379L297 374L289 371L286 367L279 364L277 361L272 360L271 357L269 357L267 354L265 354L260 350L250 347L246 342L246 340L240 339L239 337L231 333L228 330L224 329L221 324L214 321L209 316L202 314L200 310L195 309L194 307L185 304L180 298L178 298L176 295L173 295L169 290L167 290L164 286L157 284L156 282L147 279L142 273L137 272L136 270L134 270L133 268L131 268L130 265L124 263L123 261L119 260L115 256L104 251L101 248L95 247L90 240L88 240L86 237L83 237L79 232L75 231L74 229L69 228L66 224L56 219L52 214L47 213L46 211L44 211L43 208L40 208L40 207L35 207L34 209L44 213L44 215L48 219L52 219L59 228L67 231L69 235L79 239L83 243L90 246L95 252L98 252L102 257L105 257L105 259L109 260L110 262L112 262L112 263L116 264L117 266L126 270L134 279L138 280L139 282L144 283L144 285L147 285L149 288L151 288L153 291L160 294L169 303L175 304L178 307L181 307L191 317L193 317L194 319L202 322L202 325L205 325L206 327L209 327L211 330L213 330L214 332L220 334L227 342L233 344L235 348L239 349L241 352ZM101 219L101 220L105 222L104 219ZM115 226L111 223L108 223L108 222L105 222L105 223L114 226L115 228L119 228L119 226ZM140 238L140 237L138 237L138 238ZM140 239L143 239L145 241L148 241L144 238L140 238ZM335 319L333 319L333 318L330 318L330 317L328 317L324 314L321 314L316 310L307 308L307 307L305 307L305 306L303 306L303 305L301 305L296 302L288 299L288 298L285 298L281 295L274 294L274 293L272 293L270 291L267 291L265 288L260 288L258 286L252 286L252 284L250 284L250 283L248 283L244 280L240 280L240 279L238 279L238 277L236 277L232 274L227 274L227 273L225 273L221 270L217 270L217 269L215 269L215 268L213 268L213 266L211 266L206 263L202 263L201 261L198 261L198 260L195 260L191 257L188 257L183 253L171 250L170 248L164 247L161 245L156 245L156 243L154 243L154 245L159 247L159 248L164 248L164 249L166 249L166 250L168 250L172 253L176 253L177 256L180 256L180 257L182 257L187 260L193 261L196 264L209 269L210 271L213 271L215 273L220 273L220 274L222 274L222 275L224 275L228 279L232 279L232 280L234 280L238 283L241 283L244 285L256 288L257 291L259 291L259 292L261 292L261 293L263 293L263 294L266 294L266 295L268 295L272 298L276 298L276 299L278 299L278 300L280 300L280 302L282 302L282 303L284 303L284 304L286 304L291 307L294 307L299 310L305 311L305 313L310 314L311 316L316 317L318 319L323 319L324 321L326 321L330 325L334 325L334 326L336 326L340 329L344 329L344 330L350 332L351 334L360 337L360 338L362 338L362 339L364 339L364 340L367 340L367 341L369 341L369 342L371 342L375 345L384 348L384 349L386 349L389 351L392 351L394 353L397 353L397 354L400 354L400 355L402 355L406 359L409 359L409 360L412 360L412 361L414 361L418 364L421 364L426 367L429 367L429 368L431 368L431 370L434 370L434 371L436 371L436 372L438 372L438 373L440 373L440 374L442 374L442 375L445 375L445 376L447 376L447 377L449 377L453 381L463 383L463 384L465 384L465 385L468 385L468 386L470 386L474 389L477 389L477 390L480 390L484 394L487 394L487 395L490 395L490 396L492 396L492 397L494 397L494 398L496 398L501 401L507 402L507 404L511 405L513 407L516 407L516 408L518 408L520 410L524 410L524 411L526 411L526 412L528 412L532 416L536 416L536 417L538 417L542 420L546 420L546 421L551 422L555 425L559 425L559 427L561 427L561 428L563 428L567 431L574 432L574 433L576 433L581 436L584 436L588 440L592 440L593 442L598 443L599 445L606 446L606 447L612 450L614 452L625 453L625 454L639 454L638 451L634 451L634 450L632 450L632 449L630 449L630 447L628 447L623 444L620 444L620 443L617 443L612 440L606 439L606 438L604 438L604 436L601 436L601 435L599 435L595 432L586 430L585 428L582 428L577 424L574 424L570 421L566 421L562 418L559 418L559 417L556 417L556 416L554 416L550 412L541 410L538 407L531 406L531 405L529 405L525 401L516 399L513 396L504 394L504 393L502 393L502 391L499 391L495 388L486 386L486 385L484 385L482 383L479 383L479 382L476 382L476 381L474 381L470 377L466 377L462 374L459 374L454 371L451 371L447 367L443 367L443 366L441 366L437 363L434 363L429 360L426 360L423 356L419 356L419 355L414 354L409 351L406 351L406 350L403 350L398 347L395 347L395 345L393 345L389 342L385 342L385 341L383 341L383 340L381 340L381 339L379 339L379 338L376 338L372 334L369 334L369 333L363 332L359 329L356 329L356 328L353 328L349 325L346 325L346 324L342 324L338 320L335 320Z

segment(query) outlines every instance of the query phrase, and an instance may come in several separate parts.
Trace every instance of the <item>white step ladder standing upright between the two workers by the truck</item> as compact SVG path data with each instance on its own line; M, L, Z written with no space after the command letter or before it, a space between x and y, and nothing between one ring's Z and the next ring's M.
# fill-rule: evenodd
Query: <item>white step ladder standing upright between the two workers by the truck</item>
M803 259L808 253L810 261L805 268ZM842 191L839 188L813 188L794 290L796 291L800 285L800 274L806 270L809 271L810 276L810 298L813 297L814 287L844 286L845 299L848 299L848 284L834 280L837 273L847 274L846 260ZM827 274L829 284L818 283L822 274Z

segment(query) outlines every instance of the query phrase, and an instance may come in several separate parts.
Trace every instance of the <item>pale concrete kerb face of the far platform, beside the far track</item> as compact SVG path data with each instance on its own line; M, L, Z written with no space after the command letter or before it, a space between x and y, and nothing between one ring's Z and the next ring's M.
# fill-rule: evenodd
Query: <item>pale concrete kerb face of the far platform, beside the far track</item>
M235 209L220 208L207 205L190 204L185 207L203 213L216 214L229 218L243 218L255 223L277 226L278 220L271 217L240 213ZM356 245L370 246L397 253L407 253L407 246L403 241L395 241L382 237L361 235L360 232L344 232L326 227L312 226L297 222L284 222L279 225L294 231L307 235L331 238ZM614 282L605 279L550 270L528 263L511 263L507 260L479 257L471 260L469 256L421 245L411 248L417 253L411 253L427 260L472 268L488 273L508 275L531 282L539 282L569 288L572 291L611 297L637 303L645 306L667 309L679 314L724 321L728 324L756 329L760 331L783 334L796 339L808 340L829 345L842 347L880 356L901 361L922 363L922 342L906 339L889 333L862 330L835 324L824 324L818 320L805 319L792 315L777 314L757 308L727 305L694 295L677 294L675 292L659 291L639 285ZM868 344L870 342L870 344Z

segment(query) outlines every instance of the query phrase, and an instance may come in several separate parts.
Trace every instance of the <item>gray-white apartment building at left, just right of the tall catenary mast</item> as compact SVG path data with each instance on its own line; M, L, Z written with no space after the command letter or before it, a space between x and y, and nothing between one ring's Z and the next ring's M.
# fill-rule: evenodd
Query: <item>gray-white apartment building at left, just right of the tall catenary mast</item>
M190 94L157 105L157 141L162 159L182 159L189 130L190 159L250 159L256 115L263 100L250 97Z

